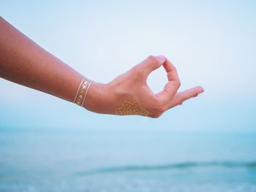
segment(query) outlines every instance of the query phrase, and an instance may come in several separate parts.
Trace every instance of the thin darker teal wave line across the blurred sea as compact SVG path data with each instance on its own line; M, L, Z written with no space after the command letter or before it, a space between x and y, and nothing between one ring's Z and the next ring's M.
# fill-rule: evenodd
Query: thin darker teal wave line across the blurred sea
M255 169L256 161L250 162L232 162L232 161L211 161L211 162L184 162L177 164L164 164L164 165L148 165L148 166L112 166L103 167L100 169L92 169L89 171L78 172L80 176L86 176L89 174L101 174L101 173L113 173L113 172L132 172L132 171L160 171L169 169L189 169L189 168L200 168L200 167L222 167L222 168L245 168Z

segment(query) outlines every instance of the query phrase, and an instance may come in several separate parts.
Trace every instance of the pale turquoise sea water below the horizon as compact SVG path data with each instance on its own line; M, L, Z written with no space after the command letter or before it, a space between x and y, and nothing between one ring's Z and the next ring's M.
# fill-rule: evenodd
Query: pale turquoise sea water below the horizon
M256 191L256 134L0 128L0 191Z

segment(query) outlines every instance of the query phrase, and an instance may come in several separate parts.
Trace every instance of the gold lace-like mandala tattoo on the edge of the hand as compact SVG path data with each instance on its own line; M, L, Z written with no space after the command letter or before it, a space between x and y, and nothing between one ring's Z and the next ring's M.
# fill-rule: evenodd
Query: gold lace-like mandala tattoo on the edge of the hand
M148 111L144 110L140 101L129 102L124 100L124 104L116 109L116 115L142 115L148 116Z

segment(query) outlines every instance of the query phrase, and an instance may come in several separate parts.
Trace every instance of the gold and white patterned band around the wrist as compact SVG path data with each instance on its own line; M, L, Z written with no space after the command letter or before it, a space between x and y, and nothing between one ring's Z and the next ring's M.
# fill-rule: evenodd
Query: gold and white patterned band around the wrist
M83 103L86 99L87 91L89 90L91 85L91 80L87 79L86 77L83 78L80 86L78 88L78 92L75 95L74 103L78 104L79 106L83 107Z

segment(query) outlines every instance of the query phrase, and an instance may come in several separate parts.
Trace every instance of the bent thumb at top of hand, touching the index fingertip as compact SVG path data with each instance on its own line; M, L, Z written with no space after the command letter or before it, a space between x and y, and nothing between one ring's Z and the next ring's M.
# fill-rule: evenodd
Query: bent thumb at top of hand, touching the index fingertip
M140 63L141 67L143 68L145 76L148 77L148 74L150 74L151 72L165 64L165 60L166 58L164 55L148 56L148 58L146 58L144 61Z

